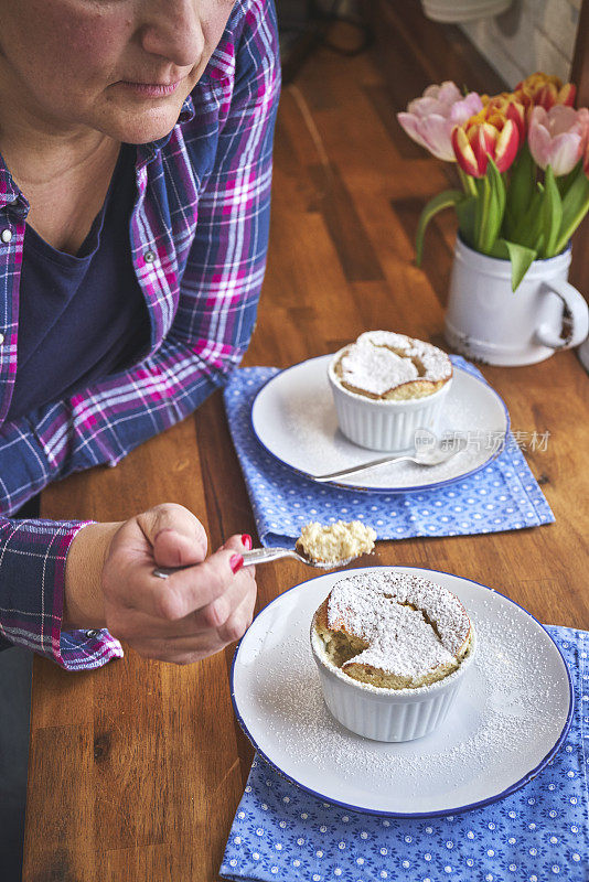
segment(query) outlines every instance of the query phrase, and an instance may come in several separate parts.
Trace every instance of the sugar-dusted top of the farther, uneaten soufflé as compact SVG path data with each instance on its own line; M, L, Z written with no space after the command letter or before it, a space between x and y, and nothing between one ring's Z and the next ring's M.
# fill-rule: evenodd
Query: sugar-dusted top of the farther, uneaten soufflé
M425 370L421 375L414 358ZM430 343L392 331L361 334L342 356L340 366L341 380L376 396L384 396L405 383L439 383L452 375L452 365L445 352Z

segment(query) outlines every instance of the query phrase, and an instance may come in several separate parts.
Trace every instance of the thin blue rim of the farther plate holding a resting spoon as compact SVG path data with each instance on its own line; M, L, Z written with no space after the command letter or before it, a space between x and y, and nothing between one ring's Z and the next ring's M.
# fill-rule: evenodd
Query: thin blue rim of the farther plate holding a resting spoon
M303 472L302 470L297 469L293 465L290 465L290 463L285 462L285 460L281 460L279 456L277 456L276 453L274 453L264 443L264 441L261 440L260 435L256 431L256 427L254 426L254 407L256 405L256 401L257 401L258 397L265 390L266 386L268 386L270 383L274 383L274 380L278 379L280 376L282 376L282 374L286 374L289 370L293 370L294 368L300 367L301 365L304 365L308 362L314 362L314 361L318 361L319 358L328 358L328 357L329 357L329 354L328 355L315 355L313 358L306 358L304 362L298 362L296 365L289 365L289 367L281 368L280 370L278 370L278 373L274 374L271 377L268 377L268 379L263 383L263 385L257 390L257 392L256 392L256 395L254 397L254 400L251 401L250 409L249 409L249 427L250 427L251 432L254 434L254 438L256 439L258 444L266 451L266 453L268 453L269 456L272 458L272 460L275 460L276 462L279 462L281 465L285 466L285 469L289 469L291 472L294 472L294 474L300 475L306 481L309 481L310 484L313 484L315 486L317 486L317 482L309 474L309 472ZM464 481L465 478L471 477L472 475L476 474L476 472L480 472L483 469L486 469L488 465L491 465L491 463L494 462L497 459L497 456L500 456L503 453L503 451L505 450L505 445L506 445L507 438L510 435L510 430L511 430L510 411L507 410L507 406L506 406L505 401L503 400L503 398L500 396L500 394L491 386L491 384L482 375L480 377L478 377L472 372L467 370L465 368L463 368L460 365L457 365L454 363L452 363L452 367L453 367L454 370L461 370L463 374L467 374L469 377L472 377L472 379L476 380L478 383L481 383L483 386L486 386L488 389L499 400L499 402L501 404L501 406L503 407L503 410L505 412L505 422L506 422L506 424L505 424L505 434L503 437L503 441L500 444L500 447L497 448L497 450L494 451L490 455L490 458L488 460L485 460L480 465L476 465L474 469L471 469L469 472L463 472L462 474L457 475L456 477L447 477L443 481L437 481L433 484L419 484L418 486L409 486L409 487L372 487L372 486L371 487L365 487L365 486L360 486L360 485L356 486L354 484L342 484L342 483L340 483L338 481L326 481L326 482L321 482L322 486L336 487L338 490L347 490L347 491L352 491L353 493L422 493L424 491L437 490L438 487L446 487L449 484L456 484L457 481Z

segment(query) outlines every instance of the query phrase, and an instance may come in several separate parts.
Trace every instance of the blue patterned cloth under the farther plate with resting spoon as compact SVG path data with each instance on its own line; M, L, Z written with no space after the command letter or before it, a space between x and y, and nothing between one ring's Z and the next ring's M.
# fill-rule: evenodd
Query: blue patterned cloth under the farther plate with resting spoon
M476 377L459 356L452 362ZM365 520L378 539L467 536L550 524L554 515L513 435L503 453L474 475L443 487L363 493L315 484L267 453L251 429L253 401L272 367L235 370L225 388L229 429L265 546L293 546L311 520Z

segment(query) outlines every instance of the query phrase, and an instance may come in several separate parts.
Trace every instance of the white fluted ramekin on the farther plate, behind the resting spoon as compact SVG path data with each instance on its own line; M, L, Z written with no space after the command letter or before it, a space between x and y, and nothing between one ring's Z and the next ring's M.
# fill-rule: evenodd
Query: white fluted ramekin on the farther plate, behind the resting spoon
M334 367L347 346L335 353L328 368L340 429L350 441L371 450L407 450L417 429L433 430L450 390L452 378L424 398L379 401L344 389Z

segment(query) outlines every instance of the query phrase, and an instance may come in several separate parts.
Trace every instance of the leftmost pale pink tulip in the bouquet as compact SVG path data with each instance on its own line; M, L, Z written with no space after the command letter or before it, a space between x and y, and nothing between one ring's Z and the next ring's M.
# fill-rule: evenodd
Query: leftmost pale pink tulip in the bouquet
M438 159L454 162L452 129L478 114L482 106L475 92L463 96L448 79L441 86L428 86L421 98L409 103L406 112L397 114L397 119L414 141Z

